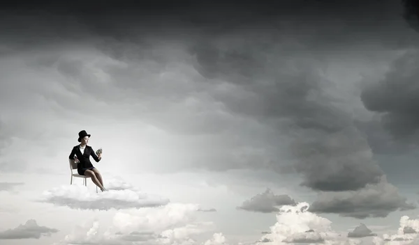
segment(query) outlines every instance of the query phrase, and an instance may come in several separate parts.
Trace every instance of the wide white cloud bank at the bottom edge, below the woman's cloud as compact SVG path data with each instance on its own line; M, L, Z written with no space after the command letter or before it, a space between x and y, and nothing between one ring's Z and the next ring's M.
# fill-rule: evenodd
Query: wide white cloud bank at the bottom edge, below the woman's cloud
M198 209L195 204L169 203L124 210L115 214L105 230L98 221L89 221L55 244L197 244L193 236L215 228L212 222L198 221ZM224 244L225 240L217 233L205 245Z

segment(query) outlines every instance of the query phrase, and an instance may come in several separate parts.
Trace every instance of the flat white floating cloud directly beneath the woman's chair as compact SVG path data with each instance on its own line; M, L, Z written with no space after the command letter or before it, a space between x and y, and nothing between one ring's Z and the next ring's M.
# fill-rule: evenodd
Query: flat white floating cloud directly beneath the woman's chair
M109 191L96 193L83 185L62 185L43 192L41 202L82 210L111 210L158 207L170 200L143 193L131 184L118 179L104 183Z

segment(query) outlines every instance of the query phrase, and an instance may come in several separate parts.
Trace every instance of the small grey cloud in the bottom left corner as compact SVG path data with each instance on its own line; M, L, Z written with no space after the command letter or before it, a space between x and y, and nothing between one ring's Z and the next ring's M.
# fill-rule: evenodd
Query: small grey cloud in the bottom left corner
M0 239L40 239L42 236L50 236L59 232L57 229L38 226L34 219L29 219L23 225L0 232Z

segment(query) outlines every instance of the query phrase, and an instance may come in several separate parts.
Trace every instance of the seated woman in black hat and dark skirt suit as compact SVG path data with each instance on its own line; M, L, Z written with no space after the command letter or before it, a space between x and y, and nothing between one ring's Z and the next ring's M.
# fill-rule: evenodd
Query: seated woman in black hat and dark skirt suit
M91 181L94 182L101 191L107 191L105 187L103 187L103 180L101 173L91 164L89 157L93 157L93 159L98 162L101 161L102 152L98 152L98 155L94 152L91 146L87 145L89 142L90 134L87 134L85 130L79 132L78 141L80 145L75 145L73 150L71 150L69 159L74 159L75 163L77 163L77 171L79 175L87 175L91 177Z

